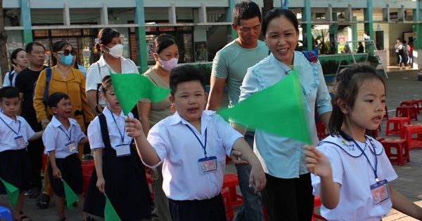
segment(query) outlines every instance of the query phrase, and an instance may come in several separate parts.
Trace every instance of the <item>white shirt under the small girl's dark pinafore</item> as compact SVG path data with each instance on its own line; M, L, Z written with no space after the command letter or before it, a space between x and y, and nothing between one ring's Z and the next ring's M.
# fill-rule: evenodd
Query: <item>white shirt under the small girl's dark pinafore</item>
M110 137L111 147L113 149L116 149L117 145L122 145L122 137L120 136L120 134L124 136L123 138L124 143L130 144L132 142L132 138L126 134L126 130L124 129L124 126L126 124L124 119L126 118L126 116L124 116L123 111L120 112L119 116L117 116L116 114L113 114L112 112L110 112L110 109L108 109L108 106L107 106L106 108L103 109L103 114L106 116L106 120L107 120L108 135ZM113 120L113 116L116 121ZM129 113L129 117L134 117L134 114ZM117 127L119 129L117 129ZM120 130L120 133L119 133L119 130ZM106 145L104 145L103 136L101 135L100 119L98 119L98 116L96 116L94 121L91 121L91 123L89 123L88 138L89 138L89 145L91 145L91 149L106 147ZM137 153L131 153L131 154L137 154Z

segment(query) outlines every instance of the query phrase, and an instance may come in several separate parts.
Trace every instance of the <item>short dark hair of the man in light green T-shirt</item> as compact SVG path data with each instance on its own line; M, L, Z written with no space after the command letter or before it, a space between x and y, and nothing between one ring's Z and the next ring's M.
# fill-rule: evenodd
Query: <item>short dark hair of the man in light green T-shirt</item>
M253 1L241 1L233 8L233 24L241 25L241 20L249 20L258 17L262 22L260 7Z

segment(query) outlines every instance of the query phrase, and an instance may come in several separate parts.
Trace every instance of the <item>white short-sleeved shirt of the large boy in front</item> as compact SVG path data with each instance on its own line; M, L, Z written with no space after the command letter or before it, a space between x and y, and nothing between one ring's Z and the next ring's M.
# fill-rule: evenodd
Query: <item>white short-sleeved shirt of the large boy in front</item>
M223 185L226 154L230 155L234 142L243 138L215 112L204 111L200 121L198 133L191 123L176 112L155 124L148 133L148 141L162 161L162 189L170 199L203 200L217 196ZM207 156L217 157L218 170L201 174L198 160L204 158L205 154L195 135L205 144L205 129Z

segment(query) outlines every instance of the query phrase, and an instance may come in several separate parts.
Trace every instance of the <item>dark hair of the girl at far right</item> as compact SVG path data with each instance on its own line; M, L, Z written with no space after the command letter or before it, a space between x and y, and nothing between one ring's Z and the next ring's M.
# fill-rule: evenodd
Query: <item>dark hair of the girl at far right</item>
M369 65L353 65L344 69L341 74L338 74L334 80L333 98L331 98L331 105L333 105L333 112L331 112L330 121L328 123L328 133L332 136L340 135L345 140L349 140L347 135L341 130L345 121L345 114L338 106L338 100L343 100L348 109L354 107L354 102L357 98L357 93L362 84L366 81L379 80L385 83L383 78L376 72L376 69Z

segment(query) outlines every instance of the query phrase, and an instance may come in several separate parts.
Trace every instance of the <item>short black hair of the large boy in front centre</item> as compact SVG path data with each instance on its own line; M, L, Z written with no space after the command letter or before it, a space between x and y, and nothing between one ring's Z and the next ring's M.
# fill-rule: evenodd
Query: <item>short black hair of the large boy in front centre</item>
M179 83L188 81L199 81L200 85L203 86L205 91L205 75L200 68L193 67L192 65L181 65L174 67L170 71L170 94L174 97L177 91L177 85Z

